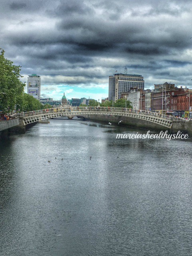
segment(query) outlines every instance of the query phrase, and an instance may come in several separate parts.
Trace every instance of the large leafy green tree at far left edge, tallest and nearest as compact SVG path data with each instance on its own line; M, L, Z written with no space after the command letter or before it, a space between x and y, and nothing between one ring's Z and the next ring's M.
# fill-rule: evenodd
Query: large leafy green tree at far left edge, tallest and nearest
M0 48L0 110L14 110L22 102L25 84L20 81L21 66L4 57L4 50ZM4 94L2 94L2 92Z

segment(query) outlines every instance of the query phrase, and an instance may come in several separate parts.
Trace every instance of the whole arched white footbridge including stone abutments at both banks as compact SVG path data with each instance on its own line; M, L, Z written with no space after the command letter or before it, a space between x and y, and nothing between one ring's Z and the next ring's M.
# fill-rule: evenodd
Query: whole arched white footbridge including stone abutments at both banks
M91 121L111 122L137 128L170 130L171 132L190 132L192 134L192 120L184 120L172 116L160 115L145 110L106 107L66 107L62 109L44 109L14 114L14 120L0 121L0 133L3 130L14 129L15 132L25 132L25 127L38 121L66 116L74 116ZM16 118L16 120L15 120Z

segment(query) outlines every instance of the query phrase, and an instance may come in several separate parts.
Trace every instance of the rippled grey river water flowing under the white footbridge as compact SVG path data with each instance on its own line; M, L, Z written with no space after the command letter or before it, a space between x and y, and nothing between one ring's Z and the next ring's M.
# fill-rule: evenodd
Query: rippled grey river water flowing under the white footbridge
M54 119L1 140L0 255L192 255L192 140L130 132Z

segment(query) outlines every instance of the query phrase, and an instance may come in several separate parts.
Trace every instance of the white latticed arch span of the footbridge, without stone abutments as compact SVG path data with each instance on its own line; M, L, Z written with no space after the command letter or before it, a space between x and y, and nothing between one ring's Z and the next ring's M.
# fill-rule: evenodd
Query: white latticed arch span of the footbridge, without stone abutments
M46 109L25 112L20 117L23 118L24 125L38 122L41 120L46 120L50 118L67 116L72 119L74 116L83 117L85 119L97 120L125 120L126 118L132 118L132 122L136 120L148 121L150 123L156 124L158 128L172 127L172 116L161 116L154 112L149 112L145 110L132 110L127 108L108 108L108 107L66 107L62 109ZM94 118L93 118L94 116ZM102 119L99 118L102 116ZM90 118L92 117L92 118ZM116 117L116 118L115 118ZM118 117L118 118L117 118ZM120 118L120 119L119 119ZM140 122L142 123L142 122Z

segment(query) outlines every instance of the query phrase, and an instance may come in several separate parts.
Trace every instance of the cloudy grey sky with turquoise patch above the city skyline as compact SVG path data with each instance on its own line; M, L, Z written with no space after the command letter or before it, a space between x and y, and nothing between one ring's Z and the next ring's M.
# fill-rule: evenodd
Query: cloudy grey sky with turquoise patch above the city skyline
M108 96L116 70L192 88L191 0L0 0L0 48L41 96Z

